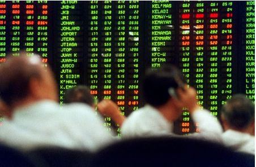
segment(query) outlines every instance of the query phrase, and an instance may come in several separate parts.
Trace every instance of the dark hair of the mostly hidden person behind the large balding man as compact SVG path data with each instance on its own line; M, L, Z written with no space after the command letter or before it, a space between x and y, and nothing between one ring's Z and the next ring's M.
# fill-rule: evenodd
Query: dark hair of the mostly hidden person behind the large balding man
M64 103L86 103L89 106L94 104L93 96L90 93L90 89L87 86L79 85L72 87L72 89L68 89L65 91L65 95L63 98Z

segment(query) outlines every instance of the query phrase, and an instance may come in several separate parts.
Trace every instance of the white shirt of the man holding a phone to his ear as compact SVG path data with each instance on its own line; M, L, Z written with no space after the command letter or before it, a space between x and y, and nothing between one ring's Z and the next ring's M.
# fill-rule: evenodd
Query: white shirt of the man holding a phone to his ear
M221 142L222 128L220 123L210 112L199 109L192 115L195 122L198 122L200 133L193 133L193 138L214 140ZM168 122L156 108L146 105L138 111L131 113L122 125L122 137L145 137L154 135L173 134L173 123Z

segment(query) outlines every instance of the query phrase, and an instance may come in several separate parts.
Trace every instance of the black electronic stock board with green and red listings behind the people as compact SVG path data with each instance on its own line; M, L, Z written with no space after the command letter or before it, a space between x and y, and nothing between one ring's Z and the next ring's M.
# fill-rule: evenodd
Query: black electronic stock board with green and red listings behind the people
M254 1L0 1L0 62L8 52L37 53L56 72L61 104L66 89L84 84L123 115L144 105L145 70L173 63L198 103L219 116L235 93L254 102L254 8ZM184 109L175 131L199 131L192 124ZM111 130L111 118L104 125Z

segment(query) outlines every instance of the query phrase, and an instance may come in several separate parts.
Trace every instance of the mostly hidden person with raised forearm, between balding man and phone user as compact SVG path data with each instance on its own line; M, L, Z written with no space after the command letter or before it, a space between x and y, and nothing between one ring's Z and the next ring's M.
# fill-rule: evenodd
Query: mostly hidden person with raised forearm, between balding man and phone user
M90 89L83 85L78 85L66 90L64 103L84 103L88 104L93 109L96 105L93 96L90 93ZM97 104L97 109L102 115L112 118L118 125L122 125L125 120L125 116L121 114L118 106L114 104L112 100L102 100Z

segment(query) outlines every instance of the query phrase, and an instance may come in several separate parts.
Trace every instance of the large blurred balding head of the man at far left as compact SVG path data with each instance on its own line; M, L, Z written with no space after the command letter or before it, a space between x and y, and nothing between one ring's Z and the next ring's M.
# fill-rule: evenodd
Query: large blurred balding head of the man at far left
M28 98L30 101L56 99L53 98L56 95L45 95L48 91L57 92L53 88L56 84L52 72L42 68L41 62L39 56L28 57L25 52L17 57L7 56L6 62L0 65L0 96L3 102L11 106Z

